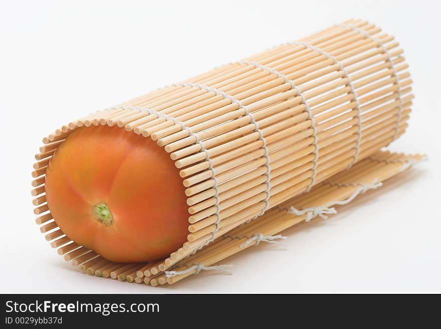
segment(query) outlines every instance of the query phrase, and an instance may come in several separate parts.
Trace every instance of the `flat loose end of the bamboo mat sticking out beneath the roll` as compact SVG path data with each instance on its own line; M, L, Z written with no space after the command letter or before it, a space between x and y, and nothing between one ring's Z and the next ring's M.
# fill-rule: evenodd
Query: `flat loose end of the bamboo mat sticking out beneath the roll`
M425 156L420 154L405 155L403 153L378 151L369 158L360 161L357 166L317 185L309 193L287 201L282 205L282 208L291 205L302 208L317 207L330 201L344 201L353 195L361 185L372 184L373 182L381 183L409 169L413 164L423 159L425 159ZM381 193L380 191L378 193ZM185 270L194 264L211 266L255 245L256 241L252 241L247 246L244 246L244 242L249 240L253 234L261 233L264 236L273 236L293 225L303 222L305 217L305 215L296 216L289 214L286 210L273 209L272 212L261 218L230 231L227 237L224 237L224 240L216 240L206 248L204 255L198 256L196 254L182 261L179 264L182 266L178 266L176 270ZM229 242L225 243L225 240ZM168 278L163 274L163 277L166 278L167 283L173 284L195 273L196 269L183 275Z

